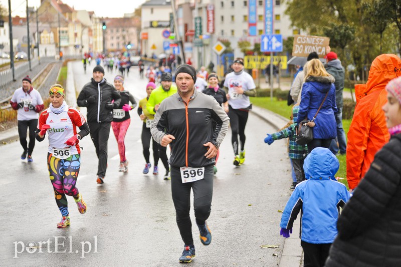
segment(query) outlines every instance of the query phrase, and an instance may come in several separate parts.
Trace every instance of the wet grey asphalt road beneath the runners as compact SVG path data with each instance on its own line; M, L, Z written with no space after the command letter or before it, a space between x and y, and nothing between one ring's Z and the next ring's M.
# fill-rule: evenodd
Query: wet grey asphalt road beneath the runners
M112 81L116 74L106 72L105 77ZM138 78L136 67L129 75L124 86L135 97L145 97L147 82ZM78 91L90 77L91 71L84 75L81 64L75 63ZM142 174L145 162L141 126L135 109L126 135L127 173L118 172L117 143L111 131L109 167L103 185L96 184L97 158L92 141L88 137L81 140L84 149L77 187L88 210L80 214L73 198L67 197L71 226L64 229L56 228L61 215L48 176L47 139L36 143L33 163L20 159L22 148L18 142L0 147L0 265L182 266L178 257L183 243L175 223L170 181L162 178L164 167L160 162L159 175ZM273 131L250 115L246 161L235 167L229 129L221 146L208 219L213 234L211 245L200 243L191 209L196 248L191 266L278 265L284 242L279 235L278 210L283 210L289 197L291 177L286 141L271 146L263 143L266 133ZM48 240L52 243L45 242ZM29 248L23 251L23 245L29 246L30 241L36 248L31 253ZM261 248L264 244L279 247Z

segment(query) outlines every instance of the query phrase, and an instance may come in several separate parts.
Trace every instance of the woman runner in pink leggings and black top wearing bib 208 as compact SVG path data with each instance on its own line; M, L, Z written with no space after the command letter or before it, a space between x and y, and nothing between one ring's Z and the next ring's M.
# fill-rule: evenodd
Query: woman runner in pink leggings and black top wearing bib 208
M120 154L120 166L118 171L128 171L128 160L125 157L125 134L127 133L128 126L131 122L129 111L136 107L134 97L124 90L124 77L117 75L114 78L114 87L121 95L121 103L117 109L113 109L113 121L111 122L111 128L113 128L114 136L117 139L118 153ZM129 105L131 102L131 106Z

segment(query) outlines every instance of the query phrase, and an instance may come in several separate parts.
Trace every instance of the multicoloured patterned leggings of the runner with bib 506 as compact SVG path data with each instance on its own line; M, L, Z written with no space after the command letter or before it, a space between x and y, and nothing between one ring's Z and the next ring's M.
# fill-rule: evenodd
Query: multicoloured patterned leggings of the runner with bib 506
M67 159L53 157L47 154L47 167L49 169L50 181L54 189L54 197L62 216L68 216L68 204L66 195L78 199L78 188L75 187L79 169L81 167L81 156L71 155Z

